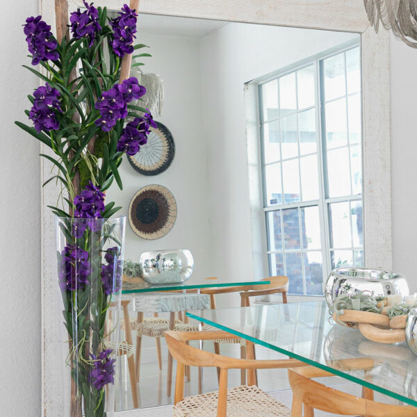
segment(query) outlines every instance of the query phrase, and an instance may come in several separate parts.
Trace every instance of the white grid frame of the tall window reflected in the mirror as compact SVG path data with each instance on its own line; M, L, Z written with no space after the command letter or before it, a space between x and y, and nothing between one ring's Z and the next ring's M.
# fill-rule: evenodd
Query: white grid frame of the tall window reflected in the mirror
M262 188L262 192L261 192L261 206L263 207L263 231L262 231L262 236L263 239L265 241L265 269L268 271L268 275L272 275L271 272L271 263L270 263L270 254L283 254L283 263L284 263L284 270L286 269L286 256L285 254L287 253L300 253L300 254L304 254L306 252L319 252L319 250L309 250L309 249L304 249L303 248L303 243L302 241L300 242L300 249L297 250L285 250L284 249L284 229L281 230L281 234L282 234L282 241L283 241L283 247L282 250L268 250L268 220L267 220L267 215L269 212L273 212L273 211L281 211L281 225L284 224L283 221L283 217L282 217L282 211L289 209L289 208L297 208L298 209L298 213L299 213L299 222L301 222L301 209L304 207L309 207L309 206L318 206L318 211L319 211L319 218L320 218L320 235L321 235L321 249L320 252L322 253L322 275L323 275L323 279L325 280L325 277L327 277L329 275L329 273L332 271L332 257L331 257L331 252L334 251L334 248L331 245L331 239L330 239L330 209L329 209L329 204L332 203L337 203L337 202L348 202L348 204L351 204L351 202L354 201L361 201L362 202L362 207L363 207L363 195L362 194L350 194L350 195L345 195L345 196L341 196L341 197L327 197L327 187L326 187L326 179L327 179L327 169L325 167L325 116L324 116L324 108L325 108L325 104L332 102L336 99L341 99L343 97L345 97L347 99L347 97L349 97L352 94L348 94L347 92L347 87L345 88L345 95L341 96L341 97L337 97L336 99L332 99L329 101L325 101L324 99L324 79L322 77L322 70L321 70L321 65L323 63L323 61L327 58L331 58L332 56L336 56L338 54L342 54L343 52L349 51L350 49L354 49L357 47L361 47L361 43L360 40L352 40L352 41L348 41L345 42L341 45L338 45L336 47L333 47L331 49L327 49L326 51L322 51L319 54L310 56L309 58L305 58L304 60L300 60L297 63L294 63L292 65L288 65L287 67L284 67L281 70L277 70L275 72L273 72L272 74L268 74L266 76L262 76L259 79L256 80L252 80L251 83L254 83L256 85L256 92L257 92L257 97L256 97L256 111L258 113L258 123L259 123L259 159L260 159L260 163L259 163L259 177L260 177L260 181L259 183L261 183L261 188ZM262 85L265 83L268 83L268 81L273 81L275 79L279 79L282 76L286 76L288 74L293 74L294 72L297 72L298 70L302 70L305 67L308 67L310 65L313 65L314 68L314 72L315 72L315 80L316 80L316 85L315 85L315 104L313 106L309 106L306 108L302 108L302 112L304 111L308 111L311 110L313 108L316 109L316 132L317 132L317 150L316 152L313 152L311 154L303 154L302 156L300 155L300 152L298 153L297 156L294 156L293 158L285 158L284 160L282 159L282 152L281 153L281 159L280 161L272 161L269 163L265 163L263 155L264 155L264 149L263 149L263 126L265 123L271 123L271 122L275 122L276 120L279 121L279 126L281 126L281 115L279 115L279 117L277 117L277 119L272 119L272 120L267 120L267 121L263 121L263 97L262 97ZM345 70L346 71L346 70ZM345 83L347 83L347 77L345 76ZM279 83L278 83L278 96L279 96ZM355 92L355 94L357 94L357 92ZM361 94L361 90L359 91L359 94ZM296 81L296 99L298 101L298 90L297 90L297 81ZM347 101L346 101L347 103ZM286 116L288 115L298 115L300 113L300 109L297 106L297 109L295 109L294 111L292 111L291 113L286 113ZM347 112L347 108L346 108L346 112ZM348 119L346 119L347 121ZM349 137L349 130L348 130L348 126L347 126L347 137ZM362 136L363 136L363 131L361 129L361 142L360 142L360 146L362 147ZM281 141L280 141L280 146L281 146ZM339 149L339 148L344 148L347 147L347 149L350 149L351 144L350 142L347 142L347 145L343 145L341 147L335 147L332 148L333 149ZM268 205L267 199L267 191L266 191L266 178L265 178L265 167L268 165L273 165L275 163L281 163L283 161L291 161L293 159L295 160L300 160L301 157L305 157L305 156L309 156L309 155L313 155L316 154L317 155L317 163L318 163L318 177L319 177L319 199L314 199L314 200L302 200L300 202L293 202L293 203L285 203L284 202L284 176L281 175L281 191L282 191L282 195L283 195L283 201L280 204L273 204L273 205ZM349 153L350 155L350 153ZM363 152L361 153L361 155L363 155ZM350 156L349 156L350 158ZM301 185L301 168L300 168L300 164L298 165L298 170L299 170L299 177L300 177L300 193L302 195L302 185ZM351 188L352 191L352 188ZM350 215L350 222L352 222L352 215ZM363 219L364 222L364 219ZM350 224L350 227L352 229L352 224ZM363 225L363 229L364 229L364 225ZM301 223L300 223L300 231L301 231ZM346 247L346 248L336 248L336 250L351 250L353 257L354 257L354 251L357 250L363 250L363 252L365 251L365 245L363 243L363 247L354 247L353 246L353 242L352 242L352 246L351 247ZM364 252L365 253L365 252ZM354 258L353 258L354 261ZM303 279L303 293L302 294L293 294L293 293L289 293L291 295L300 295L300 296L304 296L304 295L308 295L308 296L322 296L321 295L309 295L306 294L306 279L305 279L305 269L304 269L304 256L302 256L301 259L301 264L302 264L302 279Z

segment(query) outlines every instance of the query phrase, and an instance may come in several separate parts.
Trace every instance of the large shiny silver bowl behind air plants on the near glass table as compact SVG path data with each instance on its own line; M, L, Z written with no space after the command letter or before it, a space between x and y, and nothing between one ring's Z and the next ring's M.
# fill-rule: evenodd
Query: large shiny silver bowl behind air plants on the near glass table
M334 300L341 294L369 291L374 297L391 294L409 295L407 279L398 272L367 268L336 268L327 278L324 292L333 312Z

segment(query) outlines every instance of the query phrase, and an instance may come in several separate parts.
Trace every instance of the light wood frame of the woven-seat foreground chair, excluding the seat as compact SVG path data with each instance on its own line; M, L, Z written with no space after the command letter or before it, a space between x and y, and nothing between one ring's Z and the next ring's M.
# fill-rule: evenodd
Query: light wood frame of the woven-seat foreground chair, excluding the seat
M190 341L234 339L236 336L227 332L165 332L165 340L172 357L177 360L177 376L175 379L174 404L184 398L184 376L186 366L198 367L217 367L220 368L219 394L218 394L218 413L217 417L227 416L227 376L229 369L241 369L247 371L247 381L249 385L255 384L254 371L256 369L271 368L294 368L306 366L306 363L297 359L277 359L261 360L253 359L253 343L247 341L247 359L235 359L224 357L220 354L199 350L190 346Z

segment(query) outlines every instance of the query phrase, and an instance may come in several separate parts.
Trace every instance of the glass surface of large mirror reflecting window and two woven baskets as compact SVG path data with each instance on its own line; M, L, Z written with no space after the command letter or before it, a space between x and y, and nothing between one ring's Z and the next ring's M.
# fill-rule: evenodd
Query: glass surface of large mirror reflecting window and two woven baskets
M133 62L145 65L132 72L151 91L146 106L158 129L137 156L124 158L123 190L108 190L129 216L124 288L143 285L142 254L155 252L147 263L162 268L161 250L190 251L189 284L285 275L290 297L322 296L332 269L363 266L358 34L139 15L136 42L147 47ZM172 404L158 328L170 320L197 324L183 313L137 316L139 295L124 297L136 297L130 320L138 400L131 364L120 356L117 409ZM236 293L215 300L218 307L240 305ZM268 300L281 302L281 294L256 297ZM201 309L198 303L189 309ZM240 344L222 344L221 352L239 357ZM273 355L262 348L256 354ZM174 375L175 366L172 381ZM199 392L200 377L191 368L186 395ZM214 368L202 380L202 391L218 389ZM238 370L229 384L240 384ZM286 370L259 372L259 386L288 389Z

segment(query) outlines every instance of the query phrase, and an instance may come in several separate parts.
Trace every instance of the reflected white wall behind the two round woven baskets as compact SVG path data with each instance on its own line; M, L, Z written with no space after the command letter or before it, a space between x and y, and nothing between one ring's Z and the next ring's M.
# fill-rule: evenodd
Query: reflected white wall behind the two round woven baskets
M145 240L127 224L125 258L138 261L140 254L149 250L189 249L195 261L193 275L208 277L211 276L208 174L202 135L198 39L138 33L137 40L147 44L152 54L152 58L143 58L145 66L142 70L155 72L164 80L162 114L155 118L170 129L175 156L165 172L152 177L133 170L124 157L120 169L123 190L113 183L106 199L123 206L120 213L127 214L131 198L140 188L149 184L167 187L177 201L174 227L163 238Z

